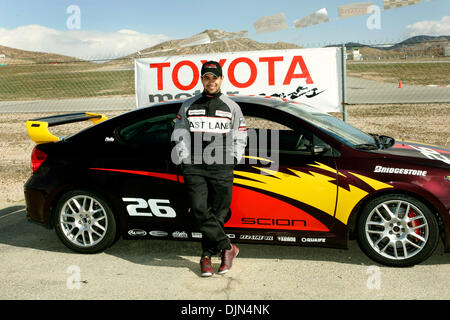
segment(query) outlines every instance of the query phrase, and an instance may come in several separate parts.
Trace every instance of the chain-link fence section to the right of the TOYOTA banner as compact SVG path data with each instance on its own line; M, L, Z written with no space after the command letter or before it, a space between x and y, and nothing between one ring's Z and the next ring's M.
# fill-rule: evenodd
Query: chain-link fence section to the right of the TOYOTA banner
M450 59L429 56L347 60L350 104L450 102Z

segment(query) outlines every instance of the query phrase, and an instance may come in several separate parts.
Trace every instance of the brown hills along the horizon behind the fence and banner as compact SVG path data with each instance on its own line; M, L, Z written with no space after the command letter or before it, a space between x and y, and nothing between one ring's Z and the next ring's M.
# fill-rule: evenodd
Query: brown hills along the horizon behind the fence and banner
M358 47L364 58L398 58L405 55L435 56L444 54L444 47L450 45L450 36L415 36L396 44L363 44L347 43L348 50ZM327 47L340 47L340 44ZM188 55L213 52L239 52L255 50L298 49L296 44L287 42L262 43L248 38L247 31L226 32L207 29L190 38L175 39L159 43L153 47L140 50L125 57L110 60L106 63L95 64L97 68L130 68L133 60L139 57ZM47 64L82 62L74 57L54 53L34 52L9 48L0 45L0 54L6 55L7 64ZM86 62L86 61L84 61ZM90 65L91 63L89 63Z

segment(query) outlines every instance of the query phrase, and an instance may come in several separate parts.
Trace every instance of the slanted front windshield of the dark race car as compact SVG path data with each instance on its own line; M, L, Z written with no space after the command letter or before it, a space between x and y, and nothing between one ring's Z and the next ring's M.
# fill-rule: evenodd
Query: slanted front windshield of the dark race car
M280 109L311 122L348 146L377 145L373 136L307 105L286 103Z

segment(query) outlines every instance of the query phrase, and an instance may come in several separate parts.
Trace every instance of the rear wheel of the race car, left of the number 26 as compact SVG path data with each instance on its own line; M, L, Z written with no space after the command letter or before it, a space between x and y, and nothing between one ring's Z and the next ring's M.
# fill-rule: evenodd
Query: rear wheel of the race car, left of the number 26
M65 193L53 215L56 234L68 248L79 253L97 253L116 239L116 221L101 196L75 190Z

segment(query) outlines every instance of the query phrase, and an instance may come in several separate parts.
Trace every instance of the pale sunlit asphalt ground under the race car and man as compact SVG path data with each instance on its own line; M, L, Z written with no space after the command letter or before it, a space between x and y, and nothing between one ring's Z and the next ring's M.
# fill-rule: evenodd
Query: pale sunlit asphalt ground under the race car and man
M0 299L450 299L450 254L442 243L410 268L377 265L356 241L348 250L238 246L229 273L202 278L197 242L119 240L83 255L54 230L28 222L23 203L8 205L0 208Z

